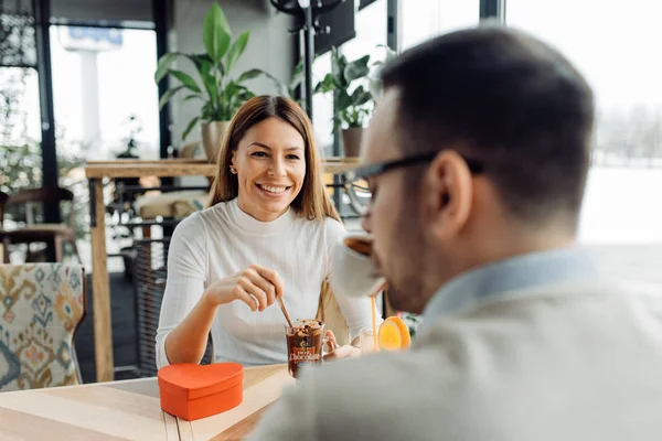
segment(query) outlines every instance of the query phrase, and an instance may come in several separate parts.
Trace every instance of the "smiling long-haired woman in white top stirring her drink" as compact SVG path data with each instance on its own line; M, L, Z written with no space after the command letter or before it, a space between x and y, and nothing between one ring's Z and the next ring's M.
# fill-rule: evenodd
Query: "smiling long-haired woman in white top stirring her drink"
M248 100L227 129L206 209L175 229L157 333L157 364L287 362L282 297L316 316L330 254L344 236L324 191L310 121L282 97ZM350 337L372 320L367 299L338 297ZM340 353L340 352L339 352ZM342 351L353 355L353 351Z

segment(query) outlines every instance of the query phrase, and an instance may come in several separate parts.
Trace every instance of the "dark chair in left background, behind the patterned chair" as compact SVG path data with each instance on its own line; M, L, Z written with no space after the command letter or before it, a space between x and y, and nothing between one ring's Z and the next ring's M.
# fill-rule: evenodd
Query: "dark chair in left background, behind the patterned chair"
M76 246L74 194L71 191L62 187L24 190L9 196L7 205L28 205L43 202L68 202L71 204L68 224L28 224L18 229L0 232L4 248L4 260L9 262L10 245L28 244L25 261L30 261L30 244L53 243L55 245L55 261L62 261L64 244L71 244L74 255L82 262Z

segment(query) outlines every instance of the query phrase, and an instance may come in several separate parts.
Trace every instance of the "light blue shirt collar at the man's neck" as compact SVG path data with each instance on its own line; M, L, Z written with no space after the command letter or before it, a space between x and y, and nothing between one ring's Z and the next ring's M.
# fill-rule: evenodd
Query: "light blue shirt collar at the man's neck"
M435 293L423 312L418 333L436 319L514 290L596 277L588 254L577 247L531 252L463 272Z

